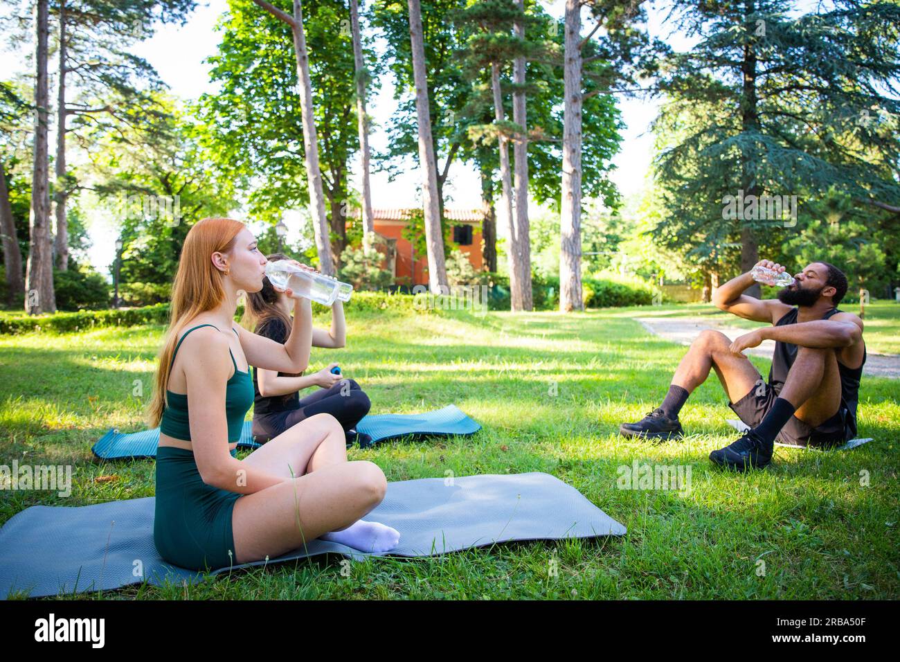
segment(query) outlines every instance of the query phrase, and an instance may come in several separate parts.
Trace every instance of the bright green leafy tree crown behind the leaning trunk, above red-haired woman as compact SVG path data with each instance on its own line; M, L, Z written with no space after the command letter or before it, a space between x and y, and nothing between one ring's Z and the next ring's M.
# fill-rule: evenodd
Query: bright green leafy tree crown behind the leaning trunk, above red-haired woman
M290 0L273 5L293 13ZM342 213L350 199L349 159L359 145L352 36L342 29L348 16L339 0L303 5L326 212L338 245L344 242ZM195 107L202 141L214 152L216 167L247 195L249 213L275 224L285 209L310 201L293 34L250 0L230 0L219 28L221 41L210 62L220 90L202 95ZM363 46L365 59L374 63L365 37ZM370 92L377 81L370 80Z

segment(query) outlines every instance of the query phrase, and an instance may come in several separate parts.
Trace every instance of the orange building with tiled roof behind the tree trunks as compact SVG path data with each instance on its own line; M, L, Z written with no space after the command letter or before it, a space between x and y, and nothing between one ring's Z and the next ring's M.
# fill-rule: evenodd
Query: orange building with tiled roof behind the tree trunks
M387 245L385 268L395 279L410 285L428 285L428 257L416 255L412 244L403 239L401 231L410 218L410 208L373 209L375 233ZM361 215L356 210L356 218ZM482 270L482 219L481 210L444 209L444 218L453 227L452 239L459 244L476 271ZM406 281L406 279L409 279Z

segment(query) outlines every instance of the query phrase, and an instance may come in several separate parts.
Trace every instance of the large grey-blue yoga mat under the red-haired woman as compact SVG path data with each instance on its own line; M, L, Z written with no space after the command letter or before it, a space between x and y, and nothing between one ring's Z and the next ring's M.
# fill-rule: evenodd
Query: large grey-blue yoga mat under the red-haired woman
M202 581L200 573L167 564L153 544L155 497L95 505L35 505L0 529L0 598L76 594L166 580ZM326 552L367 556L428 557L509 540L620 536L626 528L571 485L543 473L419 478L389 483L384 501L365 519L401 532L400 546L367 554L311 540L268 563ZM260 566L256 561L238 567ZM229 568L211 572L217 575Z

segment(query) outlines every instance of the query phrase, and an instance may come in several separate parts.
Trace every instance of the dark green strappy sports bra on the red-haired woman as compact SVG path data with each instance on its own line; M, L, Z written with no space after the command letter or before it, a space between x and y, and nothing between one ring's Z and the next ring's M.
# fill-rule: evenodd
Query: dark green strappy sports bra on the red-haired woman
M187 334L194 329L200 329L203 326L211 326L216 331L219 328L214 324L198 324L187 331L178 344L175 345L175 351L172 352L172 362L169 364L169 371L175 365L175 355L181 343L187 338ZM234 331L234 329L231 329ZM234 331L238 334L238 331ZM239 338L239 336L238 336ZM231 354L231 363L234 364L234 375L226 382L225 385L225 418L228 421L228 440L229 443L240 439L240 431L244 426L244 416L250 405L253 404L253 379L250 377L250 370L247 372L238 370L238 363L234 360L234 354ZM172 393L166 389L166 400L168 404L163 409L162 418L159 421L159 430L169 437L184 441L191 440L191 426L187 417L187 394Z

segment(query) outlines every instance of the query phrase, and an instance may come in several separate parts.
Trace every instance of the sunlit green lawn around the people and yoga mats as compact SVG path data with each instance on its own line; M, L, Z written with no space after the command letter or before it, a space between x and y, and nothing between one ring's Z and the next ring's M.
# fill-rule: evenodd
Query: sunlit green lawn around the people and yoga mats
M619 422L639 419L658 404L684 352L629 317L708 310L366 314L350 319L349 348L313 352L311 367L336 360L363 385L373 413L452 403L483 425L468 439L386 443L351 449L351 459L373 460L392 481L444 477L447 470L456 476L544 471L624 523L624 537L368 559L352 564L347 577L339 558L314 558L224 573L191 588L139 585L102 596L898 597L896 381L863 379L860 436L874 441L851 451L778 449L771 467L745 476L716 470L707 458L734 440L725 423L734 414L715 377L683 410L682 422L693 433L686 440L653 445L617 435ZM142 429L162 331L0 337L0 463L24 457L74 465L70 497L5 492L0 522L36 503L72 506L154 494L152 460L103 462L90 448L111 426ZM768 362L752 360L765 373ZM142 396L134 394L137 385ZM691 467L690 491L618 489L617 468L635 459ZM869 485L860 485L866 475ZM98 476L115 478L96 482ZM758 560L765 562L763 576ZM552 563L556 576L548 572Z

